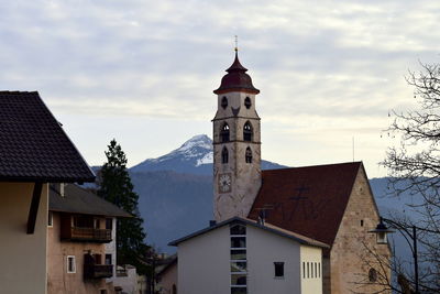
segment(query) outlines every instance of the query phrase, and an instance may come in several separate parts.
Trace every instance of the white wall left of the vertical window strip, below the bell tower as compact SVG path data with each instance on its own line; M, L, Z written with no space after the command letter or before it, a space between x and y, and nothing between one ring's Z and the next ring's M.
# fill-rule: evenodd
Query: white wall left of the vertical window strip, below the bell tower
M231 293L229 227L180 243L177 254L177 293Z

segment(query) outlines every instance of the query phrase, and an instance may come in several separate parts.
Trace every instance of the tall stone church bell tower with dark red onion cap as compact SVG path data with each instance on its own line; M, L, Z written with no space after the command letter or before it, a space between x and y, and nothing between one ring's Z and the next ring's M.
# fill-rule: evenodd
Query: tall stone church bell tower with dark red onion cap
M235 59L227 69L213 118L213 213L217 221L248 217L261 187L261 129L248 69Z

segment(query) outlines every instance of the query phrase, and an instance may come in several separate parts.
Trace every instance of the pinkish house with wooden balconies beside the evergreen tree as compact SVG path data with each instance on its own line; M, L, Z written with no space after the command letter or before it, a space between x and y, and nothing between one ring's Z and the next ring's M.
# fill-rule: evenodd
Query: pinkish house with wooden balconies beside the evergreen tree
M47 293L114 293L116 219L131 217L74 184L51 184Z

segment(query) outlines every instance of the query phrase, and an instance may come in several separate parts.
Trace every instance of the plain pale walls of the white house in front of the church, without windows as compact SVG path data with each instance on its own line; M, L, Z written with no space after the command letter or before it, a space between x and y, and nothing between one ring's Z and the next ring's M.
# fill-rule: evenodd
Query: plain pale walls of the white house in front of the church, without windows
M321 294L321 279L304 281L301 259L321 262L321 249L246 227L248 293ZM229 226L178 246L178 293L231 293ZM284 262L284 276L275 277L275 262Z

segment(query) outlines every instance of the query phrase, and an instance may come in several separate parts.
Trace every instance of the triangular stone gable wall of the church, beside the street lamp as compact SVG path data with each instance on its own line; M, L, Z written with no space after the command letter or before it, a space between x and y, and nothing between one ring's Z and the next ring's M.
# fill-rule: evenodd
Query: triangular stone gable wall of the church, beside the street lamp
M330 251L330 279L324 282L324 294L349 294L355 292L375 293L378 287L369 281L369 271L389 276L389 270L380 271L375 259L367 253L371 249L391 257L386 244L377 244L376 237L369 233L380 221L380 215L363 167L360 168L342 222ZM373 264L367 264L373 262ZM376 265L376 266L374 266ZM328 273L327 273L328 275ZM330 288L329 288L330 285Z

